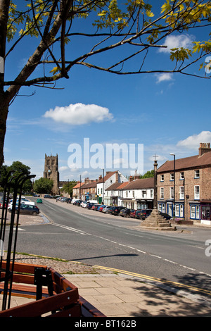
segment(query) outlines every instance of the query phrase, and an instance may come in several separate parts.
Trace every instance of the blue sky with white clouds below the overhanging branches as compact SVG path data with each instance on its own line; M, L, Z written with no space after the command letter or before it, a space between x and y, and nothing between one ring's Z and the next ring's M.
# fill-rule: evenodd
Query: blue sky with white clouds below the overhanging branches
M186 46L197 37L191 31L174 35L165 44ZM33 39L25 43L27 49L18 46L6 60L6 80L18 74L34 50ZM85 47L80 42L78 46ZM168 51L153 51L146 64L154 68L171 63L169 56ZM199 64L193 73L198 74ZM36 75L41 73L36 70ZM45 154L58 154L60 180L101 175L101 168L68 166L68 146L79 144L83 150L84 138L90 145L101 144L105 151L108 143L143 144L143 173L153 169L155 154L159 166L172 159L170 153L176 158L196 155L200 142L211 142L210 80L179 74L112 75L77 66L70 79L60 80L56 87L63 89L24 87L8 114L5 164L21 161L36 179L43 175ZM106 164L104 168L119 169L115 165L106 169ZM120 171L130 175L134 168Z

